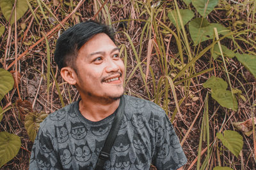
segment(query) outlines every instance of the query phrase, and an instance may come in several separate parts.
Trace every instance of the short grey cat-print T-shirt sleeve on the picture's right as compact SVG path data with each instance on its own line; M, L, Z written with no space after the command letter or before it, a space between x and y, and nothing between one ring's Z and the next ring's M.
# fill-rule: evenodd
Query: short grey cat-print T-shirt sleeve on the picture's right
M158 124L158 123L157 123ZM160 118L155 128L155 149L152 164L157 169L179 169L186 164L186 156L180 146L173 126L166 114Z

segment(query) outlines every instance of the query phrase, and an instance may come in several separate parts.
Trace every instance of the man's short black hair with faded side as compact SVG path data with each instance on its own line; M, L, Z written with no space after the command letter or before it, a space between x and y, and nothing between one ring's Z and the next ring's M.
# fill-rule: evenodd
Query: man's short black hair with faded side
M54 60L59 69L72 67L76 71L76 59L79 49L94 35L105 33L115 43L112 27L94 21L81 22L64 31L56 43Z

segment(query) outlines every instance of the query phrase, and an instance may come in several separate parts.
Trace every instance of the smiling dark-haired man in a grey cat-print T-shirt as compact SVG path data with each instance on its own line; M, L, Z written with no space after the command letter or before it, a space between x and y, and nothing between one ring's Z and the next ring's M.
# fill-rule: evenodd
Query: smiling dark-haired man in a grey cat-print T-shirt
M124 117L104 169L178 169L186 164L179 139L156 104L125 96L124 63L113 31L88 21L61 34L54 60L81 99L40 124L29 169L94 169L123 97Z

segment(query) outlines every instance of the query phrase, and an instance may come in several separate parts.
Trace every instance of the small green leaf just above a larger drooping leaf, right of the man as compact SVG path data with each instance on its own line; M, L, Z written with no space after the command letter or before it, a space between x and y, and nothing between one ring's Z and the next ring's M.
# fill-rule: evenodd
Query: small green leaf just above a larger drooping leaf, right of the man
M228 84L222 78L218 78L216 76L211 76L205 83L203 84L204 88L210 88L211 90L218 90L228 88Z

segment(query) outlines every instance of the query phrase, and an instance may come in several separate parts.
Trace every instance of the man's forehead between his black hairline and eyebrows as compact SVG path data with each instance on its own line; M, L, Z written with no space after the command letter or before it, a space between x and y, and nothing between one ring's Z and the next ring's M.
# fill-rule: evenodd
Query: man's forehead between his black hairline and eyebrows
M90 55L95 52L111 52L113 48L116 48L115 43L105 33L99 33L89 39L78 50L78 55Z

